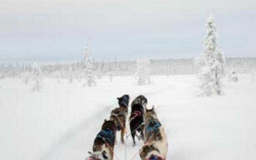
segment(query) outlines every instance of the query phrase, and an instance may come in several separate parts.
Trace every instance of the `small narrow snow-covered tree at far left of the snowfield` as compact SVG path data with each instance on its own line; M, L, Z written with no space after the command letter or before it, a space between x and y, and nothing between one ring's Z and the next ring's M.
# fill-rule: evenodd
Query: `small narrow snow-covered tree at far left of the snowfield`
M32 68L32 80L34 85L32 87L33 92L39 92L42 89L42 72L38 64L35 62Z

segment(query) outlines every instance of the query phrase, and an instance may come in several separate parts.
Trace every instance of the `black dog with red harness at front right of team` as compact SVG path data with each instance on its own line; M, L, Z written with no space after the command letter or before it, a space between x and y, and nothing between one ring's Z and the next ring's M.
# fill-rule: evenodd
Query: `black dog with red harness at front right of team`
M144 108L146 108L146 104L148 103L147 98L145 98L145 96L140 95L138 97L136 97L131 104L131 115L129 118L129 122L130 122L130 131L131 131L131 135L132 135L132 139L133 139L133 146L135 146L136 142L135 142L135 136L138 138L138 140L140 140L140 138L142 138L142 140L144 140L144 134L143 134L143 130L144 130ZM137 136L136 132L140 132L140 136Z

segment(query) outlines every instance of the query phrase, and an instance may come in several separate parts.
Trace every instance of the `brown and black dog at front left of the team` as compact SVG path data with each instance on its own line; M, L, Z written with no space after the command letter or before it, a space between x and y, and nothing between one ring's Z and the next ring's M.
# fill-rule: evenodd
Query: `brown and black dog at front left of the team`
M128 115L130 97L128 94L125 94L124 96L118 97L117 99L119 107L111 111L110 120L114 121L118 131L121 130L120 141L124 144L124 134L126 132L126 116Z

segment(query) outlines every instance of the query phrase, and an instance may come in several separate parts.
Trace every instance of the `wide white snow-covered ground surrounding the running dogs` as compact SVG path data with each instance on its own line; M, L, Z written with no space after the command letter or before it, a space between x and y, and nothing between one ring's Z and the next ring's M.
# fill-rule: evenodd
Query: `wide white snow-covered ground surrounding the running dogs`
M0 80L0 156L3 160L83 160L116 97L139 94L154 104L168 138L167 160L256 159L256 82L238 74L224 82L224 96L198 97L195 75L152 77L154 84L134 85L132 77L108 77L95 87L44 79L41 92L16 78ZM130 111L130 108L129 108ZM129 126L127 127L129 128ZM128 132L129 129L128 129ZM125 160L125 145L115 146L115 160ZM127 141L131 160L143 145ZM139 160L136 154L134 160Z

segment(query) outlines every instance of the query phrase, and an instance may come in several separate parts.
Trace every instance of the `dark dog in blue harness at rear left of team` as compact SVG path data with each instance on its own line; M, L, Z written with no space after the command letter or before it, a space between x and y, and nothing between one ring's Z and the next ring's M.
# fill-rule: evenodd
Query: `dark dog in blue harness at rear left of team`
M104 120L100 132L94 139L92 153L85 160L113 160L116 125L112 120Z

